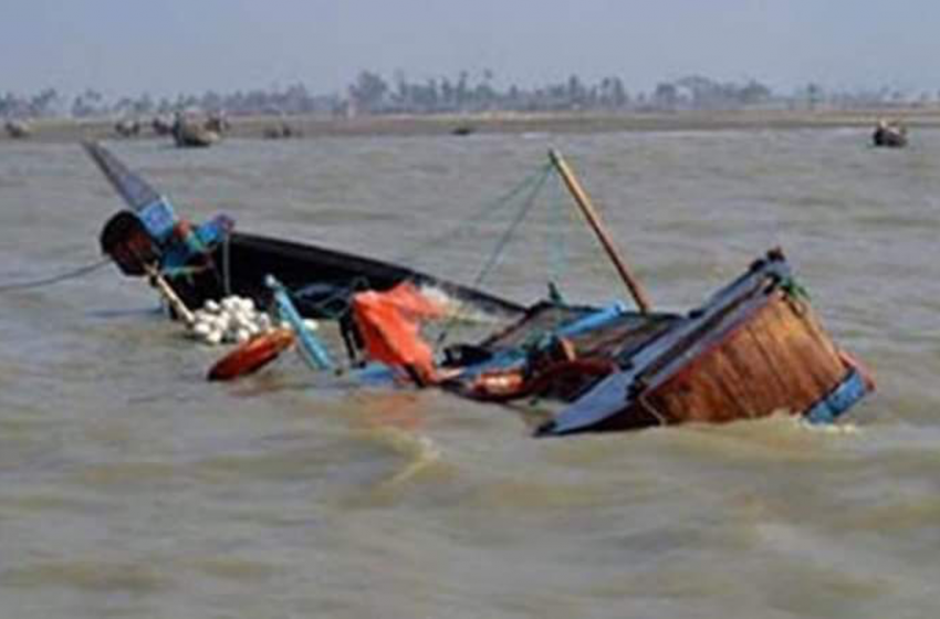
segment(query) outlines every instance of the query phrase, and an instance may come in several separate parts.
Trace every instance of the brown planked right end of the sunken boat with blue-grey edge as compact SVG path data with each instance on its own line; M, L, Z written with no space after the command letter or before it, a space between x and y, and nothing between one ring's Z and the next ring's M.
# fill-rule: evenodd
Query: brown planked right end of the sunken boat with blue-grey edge
M782 411L832 421L874 388L823 329L780 252L617 364L537 433L720 423Z

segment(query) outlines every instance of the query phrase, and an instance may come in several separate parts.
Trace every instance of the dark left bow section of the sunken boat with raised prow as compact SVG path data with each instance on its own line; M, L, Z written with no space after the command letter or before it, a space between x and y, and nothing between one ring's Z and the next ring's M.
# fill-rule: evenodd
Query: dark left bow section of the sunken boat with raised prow
M511 301L398 264L238 232L224 216L191 224L105 147L86 143L84 148L129 207L105 223L102 250L126 275L144 276L144 264L156 265L189 307L230 294L264 305L271 298L265 279L273 275L292 291L304 317L336 318L346 313L354 292L384 291L406 281L437 288L483 313L515 316L523 311Z

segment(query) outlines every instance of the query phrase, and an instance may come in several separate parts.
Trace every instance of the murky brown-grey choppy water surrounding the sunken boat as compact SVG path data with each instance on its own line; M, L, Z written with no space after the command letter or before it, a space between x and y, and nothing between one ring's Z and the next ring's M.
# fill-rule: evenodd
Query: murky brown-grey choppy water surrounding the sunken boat
M558 440L434 390L219 349L104 269L0 292L0 617L925 618L940 612L940 132L717 130L112 143L202 219L473 282L550 146L655 305L783 246L879 391L779 417ZM624 297L553 181L487 290ZM100 259L122 203L81 148L0 144L0 285ZM326 327L324 327L326 328Z

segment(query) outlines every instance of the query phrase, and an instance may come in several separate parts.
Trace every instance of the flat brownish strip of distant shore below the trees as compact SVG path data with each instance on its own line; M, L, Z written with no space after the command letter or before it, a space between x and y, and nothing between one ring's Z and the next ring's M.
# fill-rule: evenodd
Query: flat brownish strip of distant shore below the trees
M940 109L857 109L857 111L735 111L676 113L488 113L474 115L388 115L356 118L289 116L284 122L303 138L343 136L421 136L525 133L617 133L670 130L759 130L838 127L874 127L879 117L901 118L910 127L940 127ZM144 119L142 119L143 122ZM148 120L148 119L147 119ZM265 128L276 126L278 116L237 116L231 118L229 137L262 139ZM113 120L48 119L32 123L33 135L27 141L72 143L83 139L160 139L148 122L140 135L122 138ZM12 140L0 132L0 143Z

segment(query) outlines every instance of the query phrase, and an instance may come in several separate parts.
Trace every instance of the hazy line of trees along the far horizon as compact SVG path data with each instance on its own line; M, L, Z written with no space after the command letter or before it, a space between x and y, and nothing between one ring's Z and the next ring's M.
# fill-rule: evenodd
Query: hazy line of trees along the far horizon
M535 87L511 85L498 88L491 71L477 80L461 71L455 77L409 81L397 72L391 81L363 71L343 94L315 95L303 84L286 88L237 91L154 98L149 94L108 101L86 88L66 96L55 88L31 95L12 92L0 95L0 117L6 118L103 118L142 117L198 109L232 115L327 116L388 114L462 114L488 112L678 112L766 108L852 108L927 105L940 101L940 93L910 96L882 87L864 92L827 92L810 83L790 95L775 94L756 81L722 82L701 75L662 81L650 92L630 93L617 76L588 83L577 75Z

